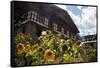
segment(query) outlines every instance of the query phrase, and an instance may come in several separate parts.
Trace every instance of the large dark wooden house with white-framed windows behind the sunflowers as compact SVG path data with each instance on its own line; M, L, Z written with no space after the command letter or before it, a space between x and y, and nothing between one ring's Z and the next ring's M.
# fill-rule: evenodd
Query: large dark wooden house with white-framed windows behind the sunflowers
M74 38L79 33L67 11L48 3L14 2L15 33L40 36L43 30L52 30Z

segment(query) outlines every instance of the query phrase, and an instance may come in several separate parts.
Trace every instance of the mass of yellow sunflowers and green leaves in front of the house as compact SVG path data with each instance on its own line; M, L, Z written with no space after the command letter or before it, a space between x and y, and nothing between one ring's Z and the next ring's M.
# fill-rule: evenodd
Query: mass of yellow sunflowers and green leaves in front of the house
M39 37L19 33L15 37L15 45L17 66L90 61L90 57L85 57L89 48L81 48L72 39L64 39L61 34L53 34L48 30ZM87 55L96 57L95 53L96 49L92 48Z

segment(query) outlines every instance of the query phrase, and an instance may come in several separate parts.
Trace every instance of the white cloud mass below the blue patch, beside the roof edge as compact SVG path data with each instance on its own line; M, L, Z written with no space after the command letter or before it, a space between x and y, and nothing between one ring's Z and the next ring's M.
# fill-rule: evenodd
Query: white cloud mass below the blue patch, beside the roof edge
M67 11L78 27L79 34L81 36L96 34L96 7L78 6L77 8L82 11L81 15L75 15L74 11L68 9Z

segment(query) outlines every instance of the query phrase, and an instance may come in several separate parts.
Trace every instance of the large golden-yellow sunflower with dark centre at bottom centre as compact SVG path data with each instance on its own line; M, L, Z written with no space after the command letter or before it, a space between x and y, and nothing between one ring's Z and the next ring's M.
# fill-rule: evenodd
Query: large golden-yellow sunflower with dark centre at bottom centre
M47 49L44 53L44 59L47 61L54 61L55 60L55 53L50 49Z

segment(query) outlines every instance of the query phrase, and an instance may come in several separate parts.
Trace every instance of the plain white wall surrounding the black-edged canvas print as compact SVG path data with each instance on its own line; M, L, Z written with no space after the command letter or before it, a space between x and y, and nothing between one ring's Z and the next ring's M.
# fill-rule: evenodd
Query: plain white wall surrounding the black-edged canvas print
M88 5L100 4L99 3L100 0L31 0L31 1L55 2L55 3L66 3L66 4L67 3L88 4ZM98 8L100 9L100 5ZM98 12L100 12L100 10ZM98 19L100 19L100 13L98 14L99 14ZM99 26L100 24L98 23L98 32L100 32ZM98 37L100 37L100 35L98 35ZM99 38L98 41L100 41ZM99 44L98 44L98 52L100 52ZM100 53L98 58L100 60ZM81 64L36 66L36 68L99 68L100 66L99 64L100 62L84 63L84 64L81 63ZM10 0L0 0L0 68L10 68Z

